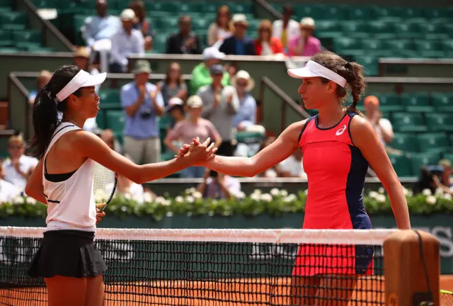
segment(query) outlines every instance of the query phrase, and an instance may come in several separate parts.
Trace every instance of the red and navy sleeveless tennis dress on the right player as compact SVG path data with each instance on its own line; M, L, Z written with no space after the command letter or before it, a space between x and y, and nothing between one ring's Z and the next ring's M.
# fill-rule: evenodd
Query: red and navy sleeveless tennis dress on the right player
M362 191L368 162L352 143L345 113L332 128L319 128L318 116L309 118L299 136L309 191L304 229L371 229ZM302 244L292 274L373 273L373 247L363 245Z

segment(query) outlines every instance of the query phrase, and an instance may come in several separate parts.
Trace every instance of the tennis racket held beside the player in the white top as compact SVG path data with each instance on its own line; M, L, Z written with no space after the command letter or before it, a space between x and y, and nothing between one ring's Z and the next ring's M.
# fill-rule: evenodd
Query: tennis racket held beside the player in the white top
M115 194L117 174L95 162L93 171L93 194L96 208L103 212Z

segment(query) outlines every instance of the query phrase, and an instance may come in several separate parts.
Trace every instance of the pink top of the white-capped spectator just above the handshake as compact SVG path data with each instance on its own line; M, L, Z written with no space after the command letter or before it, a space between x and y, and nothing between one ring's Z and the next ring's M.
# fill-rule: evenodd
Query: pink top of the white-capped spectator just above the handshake
M198 119L198 123L192 123L185 119L176 123L175 127L168 132L170 140L179 140L185 144L192 143L193 138L200 137L200 142L203 143L207 137L211 137L211 141L220 139L219 132L211 123L210 120L203 118Z

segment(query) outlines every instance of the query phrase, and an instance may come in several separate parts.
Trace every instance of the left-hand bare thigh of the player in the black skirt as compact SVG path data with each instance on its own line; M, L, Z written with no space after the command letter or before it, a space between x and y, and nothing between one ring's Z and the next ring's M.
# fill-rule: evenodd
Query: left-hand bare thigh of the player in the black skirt
M48 306L85 305L86 278L54 276L45 278Z

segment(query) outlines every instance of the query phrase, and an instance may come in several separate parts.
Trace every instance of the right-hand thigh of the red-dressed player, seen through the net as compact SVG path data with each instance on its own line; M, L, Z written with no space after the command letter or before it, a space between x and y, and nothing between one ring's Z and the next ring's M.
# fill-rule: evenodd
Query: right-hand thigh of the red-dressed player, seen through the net
M357 276L353 274L323 275L314 305L347 306L356 284Z

